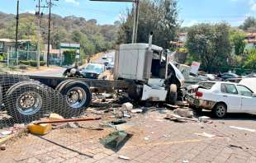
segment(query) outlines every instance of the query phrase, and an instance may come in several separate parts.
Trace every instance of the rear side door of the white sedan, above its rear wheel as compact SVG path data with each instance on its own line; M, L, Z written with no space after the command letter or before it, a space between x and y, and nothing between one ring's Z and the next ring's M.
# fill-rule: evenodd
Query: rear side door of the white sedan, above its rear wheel
M228 105L228 112L240 112L242 97L238 94L236 86L227 83L222 83L220 86L222 100Z

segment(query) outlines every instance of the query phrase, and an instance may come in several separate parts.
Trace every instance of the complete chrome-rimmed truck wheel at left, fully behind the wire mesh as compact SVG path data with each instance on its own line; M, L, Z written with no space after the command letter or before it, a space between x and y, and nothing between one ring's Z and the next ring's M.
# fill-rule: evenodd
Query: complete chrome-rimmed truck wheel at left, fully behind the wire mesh
M48 96L38 82L18 82L7 91L7 114L19 123L40 119L48 108Z

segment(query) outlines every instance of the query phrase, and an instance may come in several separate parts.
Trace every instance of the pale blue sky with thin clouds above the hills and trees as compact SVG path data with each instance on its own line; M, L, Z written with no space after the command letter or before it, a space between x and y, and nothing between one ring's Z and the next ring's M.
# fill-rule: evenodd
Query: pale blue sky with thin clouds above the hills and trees
M0 0L0 11L16 13L17 0ZM35 13L38 0L20 0L20 12ZM120 20L131 8L130 2L90 2L89 0L55 1L52 12L60 16L82 16L86 20L97 19L99 24L112 24ZM42 0L45 4L45 0ZM256 16L256 0L179 0L179 20L182 26L200 22L226 21L239 26L247 16ZM43 9L47 13L48 9Z

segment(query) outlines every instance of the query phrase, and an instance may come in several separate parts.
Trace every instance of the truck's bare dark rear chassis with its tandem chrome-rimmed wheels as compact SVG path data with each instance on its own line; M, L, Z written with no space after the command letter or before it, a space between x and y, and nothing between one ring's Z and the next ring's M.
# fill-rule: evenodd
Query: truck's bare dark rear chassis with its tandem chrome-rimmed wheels
M21 123L45 113L71 118L91 105L92 92L129 91L132 85L124 80L0 74L0 109Z

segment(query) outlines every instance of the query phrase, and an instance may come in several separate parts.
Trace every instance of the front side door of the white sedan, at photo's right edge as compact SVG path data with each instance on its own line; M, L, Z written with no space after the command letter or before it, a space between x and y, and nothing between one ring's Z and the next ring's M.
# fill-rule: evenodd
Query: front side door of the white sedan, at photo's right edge
M256 97L254 97L253 91L242 85L237 85L236 87L242 97L241 111L256 113Z

